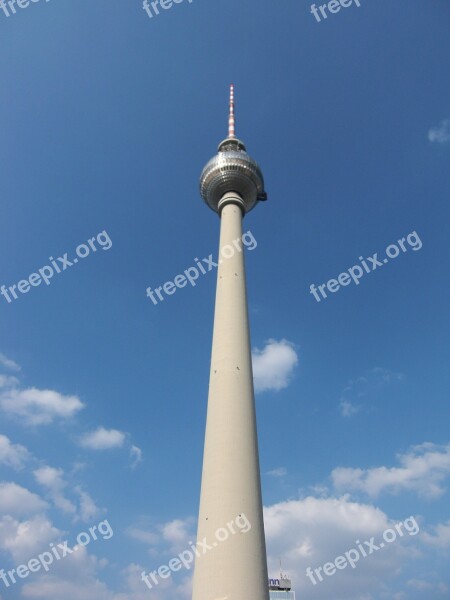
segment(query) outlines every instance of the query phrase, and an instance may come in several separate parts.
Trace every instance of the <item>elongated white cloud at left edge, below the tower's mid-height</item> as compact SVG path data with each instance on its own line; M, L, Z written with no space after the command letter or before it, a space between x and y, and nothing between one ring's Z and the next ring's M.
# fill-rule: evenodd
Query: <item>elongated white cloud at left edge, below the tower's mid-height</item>
M7 390L0 395L0 408L25 425L48 425L55 419L69 419L84 407L77 396L53 390Z

